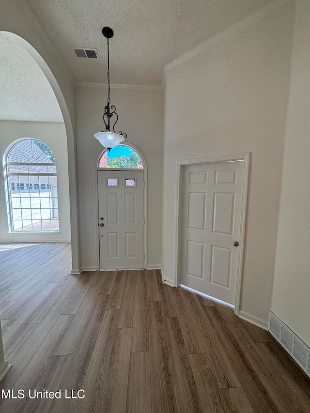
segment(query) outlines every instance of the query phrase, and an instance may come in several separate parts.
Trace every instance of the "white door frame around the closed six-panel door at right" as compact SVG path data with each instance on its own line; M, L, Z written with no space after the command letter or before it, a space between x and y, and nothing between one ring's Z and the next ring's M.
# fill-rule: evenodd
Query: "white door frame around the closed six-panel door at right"
M234 314L239 315L240 309L240 294L241 294L241 278L243 265L243 251L246 227L246 210L248 199L248 172L249 172L249 157L250 153L236 153L232 155L219 155L207 158L184 159L177 161L177 194L176 194L176 214L175 214L175 277L174 287L179 287L181 284L181 252L182 252L182 206L183 206L183 173L184 167L197 164L210 164L227 161L244 161L244 173L242 184L242 199L241 199L241 220L240 220L240 238L239 238L239 256L237 263L237 284L236 296L234 304Z

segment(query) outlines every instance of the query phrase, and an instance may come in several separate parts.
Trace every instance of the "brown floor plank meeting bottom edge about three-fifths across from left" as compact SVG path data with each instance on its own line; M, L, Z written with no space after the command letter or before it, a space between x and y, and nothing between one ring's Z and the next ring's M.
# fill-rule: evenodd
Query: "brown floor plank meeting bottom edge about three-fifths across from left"
M203 412L178 319L163 320L178 412Z

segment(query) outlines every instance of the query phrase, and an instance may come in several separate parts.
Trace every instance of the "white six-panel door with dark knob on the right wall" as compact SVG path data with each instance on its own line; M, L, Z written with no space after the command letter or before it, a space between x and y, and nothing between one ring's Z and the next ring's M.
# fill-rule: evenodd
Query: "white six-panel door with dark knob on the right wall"
M184 167L181 284L235 303L244 162Z

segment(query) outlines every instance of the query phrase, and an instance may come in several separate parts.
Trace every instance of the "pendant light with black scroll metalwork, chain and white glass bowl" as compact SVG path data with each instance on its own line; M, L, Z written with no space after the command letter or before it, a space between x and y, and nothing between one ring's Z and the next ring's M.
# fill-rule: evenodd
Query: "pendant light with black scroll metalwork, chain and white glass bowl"
M108 40L108 100L107 100L107 105L105 106L105 113L103 114L103 122L105 122L106 125L106 130L97 132L94 134L94 137L99 140L101 145L103 145L105 148L110 151L112 148L115 148L118 146L125 138L127 138L127 135L123 133L122 131L119 131L118 133L115 132L114 126L116 122L118 121L118 114L116 113L116 107L114 105L111 105L111 110L110 110L110 52L109 52L109 39L113 37L113 30L110 27L104 27L102 29L102 34L107 38ZM110 131L110 119L115 116L116 120L113 124L113 130Z

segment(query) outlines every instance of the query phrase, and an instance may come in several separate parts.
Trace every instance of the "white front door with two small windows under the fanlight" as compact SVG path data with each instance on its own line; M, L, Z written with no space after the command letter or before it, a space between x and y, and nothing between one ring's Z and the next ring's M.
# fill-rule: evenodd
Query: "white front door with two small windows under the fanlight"
M144 172L97 172L100 269L144 268Z

